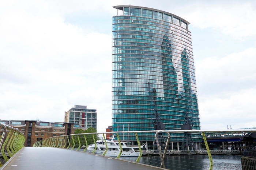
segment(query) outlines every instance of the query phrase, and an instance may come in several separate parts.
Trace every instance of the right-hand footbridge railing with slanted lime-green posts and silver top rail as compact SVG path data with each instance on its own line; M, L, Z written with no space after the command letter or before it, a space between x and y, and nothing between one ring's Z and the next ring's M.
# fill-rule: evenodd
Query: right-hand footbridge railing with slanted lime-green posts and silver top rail
M250 132L256 132L256 129L250 129ZM124 153L124 146L122 145L122 142L120 140L120 134L129 134L130 137L131 136L135 136L136 137L136 144L138 144L138 158L136 159L135 162L139 162L140 158L142 157L143 153L152 153L152 154L158 154L161 158L161 165L159 165L160 167L166 168L165 166L165 156L167 153L207 153L208 154L208 158L210 160L210 165L209 165L209 170L213 169L213 160L211 157L211 152L208 146L208 143L206 141L206 133L232 133L232 132L241 132L241 133L245 133L248 132L247 130L244 129L238 129L238 130L170 130L170 131L118 131L118 132L104 132L104 133L84 133L84 134L72 134L72 135L63 135L63 136L58 136L58 137L51 137L51 138L47 138L47 139L43 139L42 141L38 141L34 143L35 147L56 147L56 148L62 148L62 149L71 149L74 150L74 148L76 148L76 150L80 150L81 148L85 148L81 151L87 151L87 148L89 146L94 146L94 150L91 151L91 153L95 153L95 150L97 149L97 144L96 144L96 140L99 139L98 135L101 134L103 136L103 139L101 140L101 142L105 143L106 149L102 150L101 155L106 155L109 151L108 151L108 147L110 147L110 145L107 145L106 139L105 139L105 134L115 134L117 137L117 141L116 144L119 145L118 149L120 150L118 155L116 156L116 158L120 158ZM157 150L154 150L152 152L148 151L148 146L146 146L146 148L142 148L141 143L139 141L139 138L142 138L143 135L144 137L147 136L147 133L155 133L155 141L157 143ZM158 140L158 136L159 133L161 134L165 134L164 137L166 139L165 143L160 145L159 144L159 140ZM192 150L179 150L179 148L182 148L181 146L177 146L177 150L173 150L173 145L172 145L172 149L170 149L170 138L173 137L173 134L184 134L184 133L192 133L192 134L201 134L202 135L202 139L204 141L204 143L199 143L200 146L204 146L203 150L202 149L195 149L192 147ZM143 134L143 135L142 135ZM103 144L102 144L103 145ZM129 145L129 144L128 144ZM153 146L154 148L154 146ZM203 151L203 152L202 152ZM223 149L224 151L224 149Z

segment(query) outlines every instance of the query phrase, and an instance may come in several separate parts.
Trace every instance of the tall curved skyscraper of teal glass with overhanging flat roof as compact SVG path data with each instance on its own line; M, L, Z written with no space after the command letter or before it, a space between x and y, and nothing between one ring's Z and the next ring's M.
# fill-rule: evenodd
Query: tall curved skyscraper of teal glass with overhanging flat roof
M188 21L158 9L114 8L121 13L113 17L113 131L154 130L154 102L166 130L180 130L186 114L192 129L200 129ZM183 138L177 134L172 140Z

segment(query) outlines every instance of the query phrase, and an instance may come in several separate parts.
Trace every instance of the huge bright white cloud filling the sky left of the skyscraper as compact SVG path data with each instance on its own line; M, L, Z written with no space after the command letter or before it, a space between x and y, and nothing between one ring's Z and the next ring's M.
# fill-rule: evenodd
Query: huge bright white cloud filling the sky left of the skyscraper
M108 114L109 126L112 36L64 22L67 12L105 2L69 8L61 1L59 11L55 3L1 2L0 117L61 122L79 103L97 109L99 122Z

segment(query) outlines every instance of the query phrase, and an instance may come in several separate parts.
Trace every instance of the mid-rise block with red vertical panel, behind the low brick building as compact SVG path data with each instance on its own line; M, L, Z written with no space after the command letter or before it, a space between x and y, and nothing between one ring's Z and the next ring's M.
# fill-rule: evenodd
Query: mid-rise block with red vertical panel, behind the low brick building
M93 127L97 129L96 109L87 108L87 106L75 105L68 111L65 111L65 122L81 125L88 129Z

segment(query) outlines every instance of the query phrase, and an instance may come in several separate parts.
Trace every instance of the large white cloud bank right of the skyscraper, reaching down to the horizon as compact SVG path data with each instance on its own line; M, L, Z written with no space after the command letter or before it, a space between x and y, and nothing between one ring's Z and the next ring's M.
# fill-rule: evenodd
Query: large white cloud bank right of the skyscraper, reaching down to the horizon
M196 66L202 129L255 126L255 52L248 48L221 59L209 57Z

